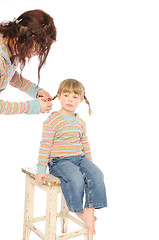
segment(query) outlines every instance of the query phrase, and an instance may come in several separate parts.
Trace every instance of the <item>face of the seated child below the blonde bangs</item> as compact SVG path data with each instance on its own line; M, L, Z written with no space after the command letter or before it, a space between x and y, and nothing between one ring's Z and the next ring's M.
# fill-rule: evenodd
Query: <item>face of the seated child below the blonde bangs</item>
M74 115L76 108L83 101L80 95L73 92L61 93L61 95L58 96L58 99L61 102L62 111L66 115Z

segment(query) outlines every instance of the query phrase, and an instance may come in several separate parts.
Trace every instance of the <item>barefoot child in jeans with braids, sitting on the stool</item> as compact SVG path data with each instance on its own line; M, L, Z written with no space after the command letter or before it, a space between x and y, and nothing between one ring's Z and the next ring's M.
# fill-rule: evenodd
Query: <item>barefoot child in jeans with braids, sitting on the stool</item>
M64 80L54 97L61 110L53 112L43 125L36 181L48 179L48 164L52 175L61 181L61 188L70 211L75 212L95 234L94 209L107 206L103 173L92 162L85 122L75 113L83 101L89 106L83 85L74 79ZM83 196L85 192L85 206Z

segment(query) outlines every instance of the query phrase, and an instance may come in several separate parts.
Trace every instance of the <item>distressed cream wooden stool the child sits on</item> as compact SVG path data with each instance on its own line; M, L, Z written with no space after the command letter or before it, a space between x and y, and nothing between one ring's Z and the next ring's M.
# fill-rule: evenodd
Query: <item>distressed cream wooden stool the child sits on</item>
M36 233L43 240L64 240L84 235L85 240L93 240L93 235L86 224L69 214L64 196L61 191L60 180L48 174L50 180L43 180L43 185L35 181L35 169L22 169L26 173L25 208L24 208L24 229L23 240L29 240L31 231ZM34 218L34 189L35 186L47 193L46 216ZM58 193L61 193L61 211L57 213ZM56 235L57 217L61 218L61 232ZM81 229L67 233L68 219L80 225ZM45 221L45 233L40 231L34 223Z

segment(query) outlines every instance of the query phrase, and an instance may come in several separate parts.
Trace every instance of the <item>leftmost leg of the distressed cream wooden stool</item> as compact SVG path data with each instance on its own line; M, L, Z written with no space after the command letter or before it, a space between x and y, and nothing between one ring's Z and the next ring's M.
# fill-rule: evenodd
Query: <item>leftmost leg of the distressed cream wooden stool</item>
M24 204L24 226L23 226L23 240L28 240L31 230L28 223L33 222L34 210L34 189L35 186L29 181L29 176L26 176L25 186L25 204Z

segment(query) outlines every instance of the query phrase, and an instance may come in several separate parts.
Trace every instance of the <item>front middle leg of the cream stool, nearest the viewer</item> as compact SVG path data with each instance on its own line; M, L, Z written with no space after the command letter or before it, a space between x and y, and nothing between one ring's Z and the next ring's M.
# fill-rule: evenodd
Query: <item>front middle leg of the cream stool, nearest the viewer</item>
M47 191L45 239L56 240L58 187L50 187Z

